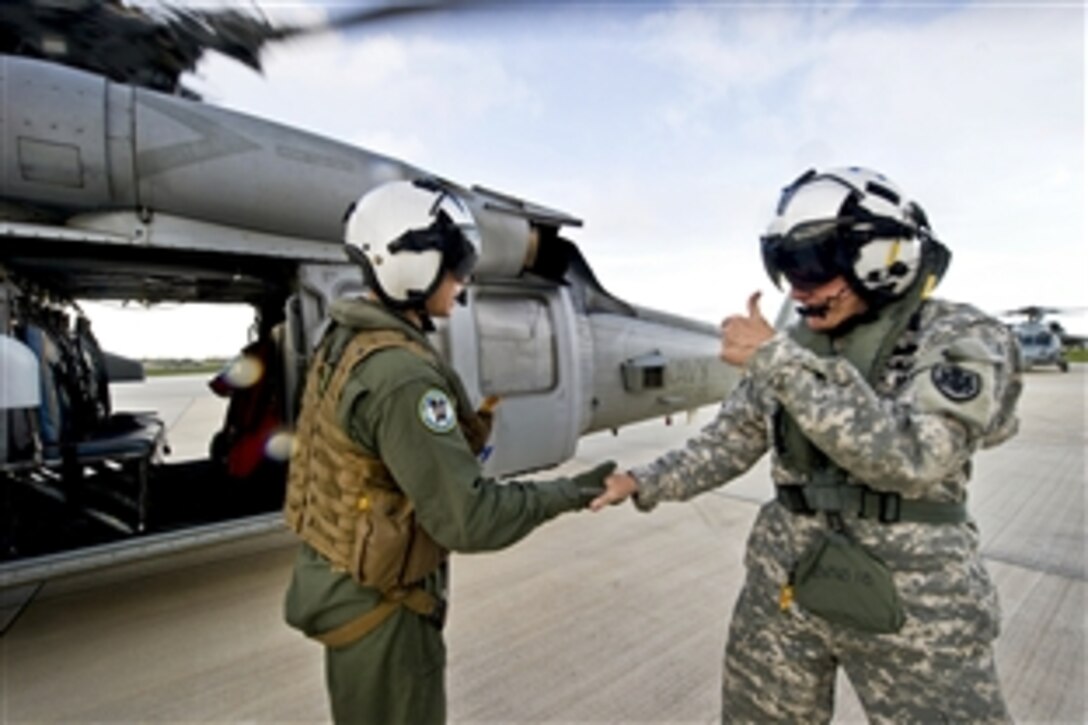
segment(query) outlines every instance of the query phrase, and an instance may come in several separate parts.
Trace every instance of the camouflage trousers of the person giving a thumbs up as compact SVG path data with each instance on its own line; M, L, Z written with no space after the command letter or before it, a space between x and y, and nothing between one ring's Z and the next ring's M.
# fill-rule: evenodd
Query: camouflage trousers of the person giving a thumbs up
M832 625L779 605L790 550L805 536L770 505L780 511L765 507L753 529L730 625L722 722L829 722L840 666L874 723L1010 722L993 662L997 599L980 564L897 576L906 610L899 632Z

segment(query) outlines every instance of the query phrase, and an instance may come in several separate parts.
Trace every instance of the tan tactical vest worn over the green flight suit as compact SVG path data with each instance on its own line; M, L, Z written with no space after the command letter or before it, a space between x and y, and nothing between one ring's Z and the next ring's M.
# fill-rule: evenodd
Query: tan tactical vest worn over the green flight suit
M327 346L318 352L302 395L284 505L287 526L335 569L382 592L417 583L447 555L416 521L415 506L385 465L367 455L337 420L336 407L351 370L387 347L404 347L436 361L425 347L392 330L356 334L331 377ZM329 384L322 390L323 380ZM454 392L462 431L475 452L490 427L465 407L459 383Z

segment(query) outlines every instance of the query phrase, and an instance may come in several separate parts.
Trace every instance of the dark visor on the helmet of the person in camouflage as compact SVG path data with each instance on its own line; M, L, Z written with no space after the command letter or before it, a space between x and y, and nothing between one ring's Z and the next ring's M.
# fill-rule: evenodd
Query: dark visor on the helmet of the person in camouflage
M799 290L818 287L839 277L843 273L837 249L842 225L842 220L811 221L798 224L788 234L762 237L767 275L776 285L784 277Z

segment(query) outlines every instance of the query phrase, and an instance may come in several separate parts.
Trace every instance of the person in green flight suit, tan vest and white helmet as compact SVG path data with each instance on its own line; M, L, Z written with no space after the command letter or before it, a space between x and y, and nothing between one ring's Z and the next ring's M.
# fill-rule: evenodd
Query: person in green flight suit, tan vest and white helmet
M302 539L288 624L325 644L337 723L445 721L448 552L502 549L584 508L614 468L484 478L490 413L429 343L477 261L472 213L431 180L392 182L349 212L369 299L341 299L307 378L284 514Z

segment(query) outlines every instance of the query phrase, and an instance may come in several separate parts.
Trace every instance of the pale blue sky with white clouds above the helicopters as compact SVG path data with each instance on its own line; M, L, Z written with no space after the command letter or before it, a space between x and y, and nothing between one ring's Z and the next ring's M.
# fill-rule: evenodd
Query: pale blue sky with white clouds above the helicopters
M337 12L258 4L272 20ZM926 209L954 254L938 294L990 311L1088 305L1080 2L540 3L264 58L263 76L213 59L191 85L571 213L598 279L640 305L716 322L761 288L774 311L757 239L779 189L849 164ZM245 328L174 309L137 333L146 316L95 310L123 354L226 355ZM190 320L196 337L180 334ZM1088 331L1088 314L1062 320Z

